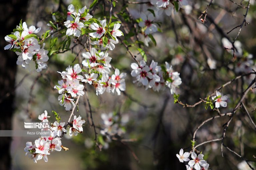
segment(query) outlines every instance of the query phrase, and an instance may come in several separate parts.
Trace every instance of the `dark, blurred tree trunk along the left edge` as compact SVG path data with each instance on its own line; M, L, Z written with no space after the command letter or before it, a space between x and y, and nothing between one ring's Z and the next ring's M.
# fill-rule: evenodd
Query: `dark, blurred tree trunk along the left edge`
M4 37L12 32L21 19L25 19L28 2L26 0L4 0L0 1L0 98L6 93L12 92L15 86L15 75L17 70L17 55L9 50L4 50L8 44ZM12 115L14 112L14 94L10 93L0 103L0 130L11 130ZM0 169L11 169L11 137L0 137Z

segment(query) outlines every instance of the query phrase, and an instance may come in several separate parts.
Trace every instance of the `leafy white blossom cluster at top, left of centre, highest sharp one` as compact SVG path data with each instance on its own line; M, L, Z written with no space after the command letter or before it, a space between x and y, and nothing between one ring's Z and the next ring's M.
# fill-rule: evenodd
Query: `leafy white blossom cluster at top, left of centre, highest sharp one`
M86 6L79 9L78 13L74 11L74 5L69 5L67 21L64 22L67 27L67 36L80 37L81 34L88 33L92 40L91 44L101 46L101 50L113 50L115 48L115 44L119 42L117 37L123 35L122 31L119 30L121 26L119 21L107 24L105 19L99 21L92 18L93 16L88 13Z

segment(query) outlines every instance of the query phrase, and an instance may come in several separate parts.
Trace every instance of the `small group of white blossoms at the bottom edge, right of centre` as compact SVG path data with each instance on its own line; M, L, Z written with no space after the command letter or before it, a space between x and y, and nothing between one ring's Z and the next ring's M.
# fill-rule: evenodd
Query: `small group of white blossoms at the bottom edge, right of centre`
M203 160L204 155L199 154L197 155L195 152L191 152L191 160L189 159L190 153L183 151L183 149L180 149L179 154L176 154L177 158L180 162L188 162L188 165L186 165L187 170L208 170L209 164Z

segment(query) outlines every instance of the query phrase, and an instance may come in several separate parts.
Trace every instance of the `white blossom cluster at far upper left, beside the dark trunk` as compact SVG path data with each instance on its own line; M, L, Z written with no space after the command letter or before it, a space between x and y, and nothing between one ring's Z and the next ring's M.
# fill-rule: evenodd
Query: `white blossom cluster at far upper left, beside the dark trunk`
M20 23L19 26L14 29L14 32L5 36L5 41L9 44L4 47L5 50L14 51L17 56L17 65L21 65L23 68L29 68L31 61L35 62L36 71L41 72L42 69L47 68L45 62L48 61L48 51L44 50L44 44L40 47L40 42L37 33L41 28L30 26L28 28L26 22Z

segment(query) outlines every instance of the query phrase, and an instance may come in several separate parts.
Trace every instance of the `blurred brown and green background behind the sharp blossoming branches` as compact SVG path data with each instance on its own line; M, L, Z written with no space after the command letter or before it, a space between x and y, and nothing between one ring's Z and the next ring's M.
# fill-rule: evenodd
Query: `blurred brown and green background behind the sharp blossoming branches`
M104 2L104 1L103 1ZM146 1L144 1L146 2ZM248 0L237 0L238 4L247 6ZM64 71L72 63L76 54L66 52L49 56L48 69L41 73L29 72L16 65L17 56L14 52L3 50L6 46L4 37L19 24L20 19L27 25L41 27L40 33L49 29L46 26L52 20L52 12L57 10L66 12L67 6L73 4L82 8L90 6L92 1L83 0L9 0L0 2L1 12L1 40L0 45L0 129L23 128L24 121L37 121L39 114L47 110L50 121L54 121L51 110L61 115L63 121L68 119L69 112L58 103L58 92L54 85L60 80L57 71ZM106 3L106 4L105 4ZM102 8L109 9L109 2L99 3L94 12L95 18L103 16ZM255 68L256 33L254 30L256 19L256 7L251 1L250 10L246 18L247 24L242 28L236 48L240 50L232 62L232 51L225 50L230 45L225 38L231 41L236 37L238 29L226 34L232 28L241 24L246 12L229 0L213 0L208 8L206 22L202 24L198 17L209 5L209 0L191 0L178 13L171 16L158 16L157 21L162 22L161 32L154 33L157 46L152 42L144 48L151 60L163 64L165 61L173 65L175 71L180 73L182 84L177 89L179 100L183 103L194 104L199 98L205 98L214 90L232 80L236 76L251 72ZM131 4L127 1L118 1L113 13L118 13L125 5L128 5L130 14L134 19L140 17L140 13L146 11L148 4ZM106 10L108 11L108 10ZM108 15L108 14L106 14ZM117 14L119 15L119 14ZM132 30L132 25L128 23ZM121 28L122 30L122 28ZM122 30L123 31L123 30ZM123 31L124 32L124 31ZM40 34L39 33L39 34ZM131 36L131 35L129 35ZM128 36L127 36L128 37ZM123 39L128 39L126 36ZM141 39L143 40L143 37ZM239 43L240 42L240 43ZM46 45L47 46L47 45ZM72 46L72 45L71 45ZM74 48L79 52L80 48ZM136 54L138 52L131 51ZM77 169L77 170L185 170L184 164L176 157L181 148L189 151L190 140L196 127L205 119L218 114L210 108L205 109L202 103L193 108L183 108L174 104L170 89L160 92L152 89L145 90L133 84L135 79L130 76L132 58L126 48L120 43L113 51L109 51L112 57L111 64L127 73L126 95L120 96L104 93L97 96L93 86L88 86L88 97L92 106L93 120L97 127L102 125L101 114L113 112L120 115L125 125L122 126L125 133L122 139L131 139L125 142L112 140L104 145L100 151L95 148L94 130L86 119L84 132L73 138L65 137L62 145L69 148L68 151L54 152L48 156L49 161L43 160L33 163L25 156L24 147L27 141L35 138L28 137L0 137L2 154L0 154L0 169L32 170L32 169ZM81 58L81 56L78 56ZM137 55L141 60L141 56ZM211 61L215 61L213 66ZM208 62L207 62L208 61ZM241 93L247 88L254 77L244 77L226 86L221 92L228 96L228 107L220 108L221 113L231 111L240 99ZM245 100L247 109L255 108L255 91L250 91ZM82 98L79 111L75 113L83 118L88 116L86 111L86 98ZM85 103L85 104L84 104ZM251 113L253 120L255 112ZM223 124L228 117L221 117L205 124L196 136L197 144L219 138L222 135ZM96 129L98 133L99 129ZM256 161L255 129L250 124L243 109L237 111L233 118L225 139L225 144L249 160ZM106 139L99 137L104 144ZM224 158L220 151L221 142L212 142L200 146L199 151L205 155L204 159L210 164L210 169L247 170L248 165L224 148ZM253 166L252 162L252 166Z

